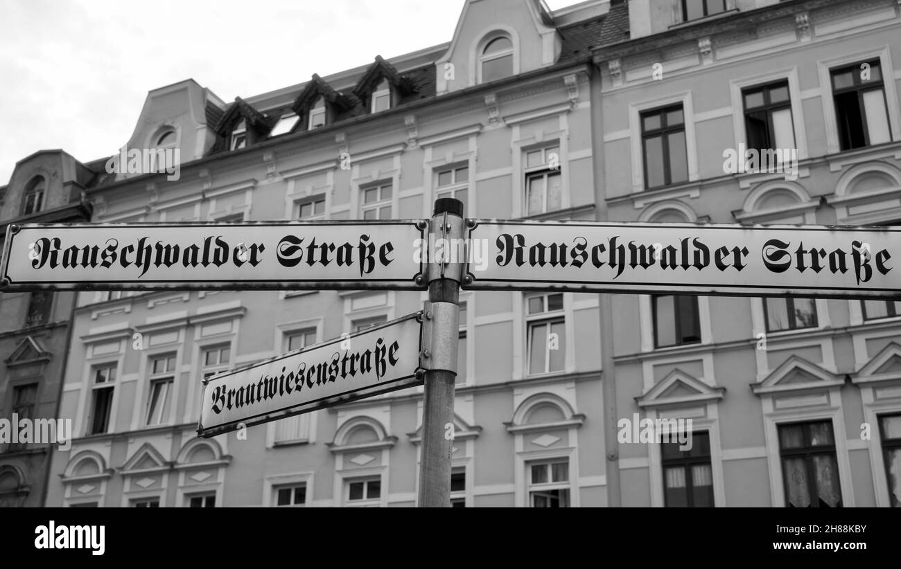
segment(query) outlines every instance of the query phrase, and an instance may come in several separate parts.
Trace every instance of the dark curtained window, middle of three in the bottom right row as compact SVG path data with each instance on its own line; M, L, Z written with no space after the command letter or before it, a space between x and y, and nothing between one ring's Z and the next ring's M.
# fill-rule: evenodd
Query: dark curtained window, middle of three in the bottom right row
M841 508L842 489L831 420L778 425L789 508Z

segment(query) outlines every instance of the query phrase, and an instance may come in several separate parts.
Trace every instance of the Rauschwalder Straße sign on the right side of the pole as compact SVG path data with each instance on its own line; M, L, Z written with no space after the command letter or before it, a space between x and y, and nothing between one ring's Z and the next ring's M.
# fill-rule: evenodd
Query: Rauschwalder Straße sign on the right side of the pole
M464 289L901 298L901 228L469 220Z

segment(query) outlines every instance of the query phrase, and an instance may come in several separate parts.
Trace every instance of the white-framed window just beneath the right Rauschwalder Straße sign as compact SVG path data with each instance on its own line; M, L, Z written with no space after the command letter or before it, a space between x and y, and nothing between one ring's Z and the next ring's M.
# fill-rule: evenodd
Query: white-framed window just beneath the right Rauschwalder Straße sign
M529 375L561 372L566 366L563 294L526 297L526 341Z

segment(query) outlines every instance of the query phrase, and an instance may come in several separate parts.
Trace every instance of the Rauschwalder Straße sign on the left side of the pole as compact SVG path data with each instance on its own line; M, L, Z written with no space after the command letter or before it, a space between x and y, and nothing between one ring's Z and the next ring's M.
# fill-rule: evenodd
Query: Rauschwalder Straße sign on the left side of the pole
M10 225L0 288L424 290L423 259L414 248L427 226L425 220Z

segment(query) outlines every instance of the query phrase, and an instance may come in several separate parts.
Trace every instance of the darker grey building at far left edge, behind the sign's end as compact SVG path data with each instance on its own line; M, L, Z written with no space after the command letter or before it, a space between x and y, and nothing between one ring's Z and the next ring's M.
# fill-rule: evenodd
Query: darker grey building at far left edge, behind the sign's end
M89 221L84 189L95 177L62 150L35 152L17 162L9 184L0 187L0 244L12 223ZM18 426L59 416L75 299L68 292L0 294L0 417L9 421L0 438L0 507L44 503L50 438L57 433L41 430L36 438L31 426L28 431Z

